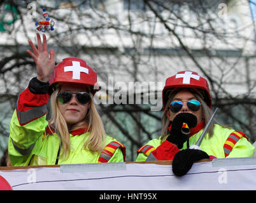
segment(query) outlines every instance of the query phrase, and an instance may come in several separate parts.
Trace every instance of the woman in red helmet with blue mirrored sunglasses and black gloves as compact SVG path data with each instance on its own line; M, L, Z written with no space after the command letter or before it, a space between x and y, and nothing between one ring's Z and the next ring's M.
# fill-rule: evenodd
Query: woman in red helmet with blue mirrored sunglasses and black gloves
M196 72L181 71L167 78L162 101L162 135L139 148L136 161L173 160L173 173L181 176L200 159L253 156L254 147L245 133L221 126L215 119L201 150L189 148L196 145L212 115L208 82Z

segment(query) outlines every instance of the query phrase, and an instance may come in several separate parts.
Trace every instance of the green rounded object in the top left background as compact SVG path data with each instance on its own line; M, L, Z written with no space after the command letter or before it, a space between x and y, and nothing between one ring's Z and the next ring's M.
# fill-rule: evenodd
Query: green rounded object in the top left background
M0 16L0 32L6 31L6 26L13 24L18 19L18 10L15 6L5 4L3 15Z

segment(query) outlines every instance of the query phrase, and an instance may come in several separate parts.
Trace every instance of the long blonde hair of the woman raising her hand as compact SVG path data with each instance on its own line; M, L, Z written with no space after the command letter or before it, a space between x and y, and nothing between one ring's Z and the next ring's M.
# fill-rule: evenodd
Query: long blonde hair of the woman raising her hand
M51 106L49 124L55 128L55 132L60 137L63 149L61 155L68 159L72 146L67 123L60 113L59 107L57 105L57 94L59 91L60 86L55 91L53 91L50 98ZM92 93L90 93L90 108L87 112L87 115L82 121L75 124L70 130L72 131L74 129L84 128L85 126L88 126L87 131L90 131L90 136L85 141L84 148L87 149L88 147L90 152L101 152L105 145L106 133L104 130L103 122L101 121L101 117L99 117L97 109L94 105Z

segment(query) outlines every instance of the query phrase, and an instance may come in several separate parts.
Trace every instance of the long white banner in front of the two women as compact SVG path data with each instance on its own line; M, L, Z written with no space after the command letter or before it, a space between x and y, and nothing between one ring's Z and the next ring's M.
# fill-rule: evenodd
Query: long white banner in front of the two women
M214 159L177 177L171 165L71 164L6 170L13 190L256 190L256 158Z

